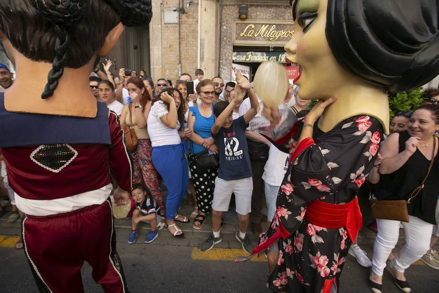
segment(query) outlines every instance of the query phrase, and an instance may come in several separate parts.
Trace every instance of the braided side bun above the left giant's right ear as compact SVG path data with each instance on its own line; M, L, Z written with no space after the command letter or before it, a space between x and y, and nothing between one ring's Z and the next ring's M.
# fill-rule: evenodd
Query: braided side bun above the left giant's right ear
M105 0L126 26L146 26L152 18L151 0Z

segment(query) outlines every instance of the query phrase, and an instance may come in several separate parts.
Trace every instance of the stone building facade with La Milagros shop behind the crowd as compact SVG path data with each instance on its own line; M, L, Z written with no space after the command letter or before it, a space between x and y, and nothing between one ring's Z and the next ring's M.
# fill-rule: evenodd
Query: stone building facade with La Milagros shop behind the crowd
M114 68L145 69L154 80L205 78L233 80L232 65L254 75L261 61L284 63L283 46L293 33L288 0L152 0L147 28L127 28L109 58ZM239 19L239 7L247 19ZM280 57L279 57L280 56ZM276 57L276 58L274 58ZM114 72L117 74L117 72Z

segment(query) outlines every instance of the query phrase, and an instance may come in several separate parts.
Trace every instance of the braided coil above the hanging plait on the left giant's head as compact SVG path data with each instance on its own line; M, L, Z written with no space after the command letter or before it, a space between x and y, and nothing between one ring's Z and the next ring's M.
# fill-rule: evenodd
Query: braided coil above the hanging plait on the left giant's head
M73 25L85 14L85 0L32 0L35 8L50 21Z

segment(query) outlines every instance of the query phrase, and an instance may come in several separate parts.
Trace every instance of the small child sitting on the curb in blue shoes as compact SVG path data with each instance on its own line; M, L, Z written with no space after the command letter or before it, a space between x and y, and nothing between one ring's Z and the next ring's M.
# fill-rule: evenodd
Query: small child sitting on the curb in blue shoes
M140 221L149 221L151 224L151 231L145 237L145 243L151 243L157 238L157 236L159 236L159 232L156 230L156 225L157 212L160 207L156 201L151 198L147 189L140 184L133 186L131 195L136 202L136 209L133 211L131 222L133 230L128 236L128 243L132 244L136 242L137 225L139 225Z

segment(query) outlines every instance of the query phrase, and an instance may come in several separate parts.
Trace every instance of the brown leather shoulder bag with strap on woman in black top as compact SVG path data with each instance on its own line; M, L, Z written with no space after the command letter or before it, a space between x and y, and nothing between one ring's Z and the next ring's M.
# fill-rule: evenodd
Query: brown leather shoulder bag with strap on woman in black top
M428 166L427 175L425 175L422 184L419 185L413 192L410 194L410 198L407 200L376 200L372 199L372 196L369 195L370 204L372 206L372 217L374 219L386 219L386 220L395 220L401 222L409 222L409 215L407 210L407 205L410 201L417 197L419 192L424 188L425 180L430 174L431 168L433 167L433 163L435 161L435 149L436 149L436 138L433 139L433 154L430 161L430 166Z

